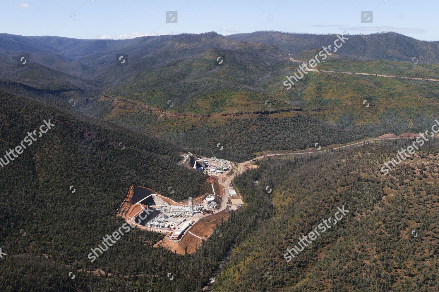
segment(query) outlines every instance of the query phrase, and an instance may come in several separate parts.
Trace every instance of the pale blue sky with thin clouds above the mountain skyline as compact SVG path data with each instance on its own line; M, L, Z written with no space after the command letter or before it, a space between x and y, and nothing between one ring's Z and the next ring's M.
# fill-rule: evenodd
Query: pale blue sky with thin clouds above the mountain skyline
M438 0L6 0L0 32L131 39L212 31L222 35L261 30L392 31L439 41L438 11ZM362 18L367 22L361 23Z

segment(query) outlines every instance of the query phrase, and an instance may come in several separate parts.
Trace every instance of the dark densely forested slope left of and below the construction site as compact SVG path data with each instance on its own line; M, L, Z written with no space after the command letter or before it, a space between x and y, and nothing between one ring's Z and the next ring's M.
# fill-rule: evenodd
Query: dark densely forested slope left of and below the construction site
M182 201L211 191L206 176L176 164L178 146L7 92L0 120L2 151L54 124L0 169L1 291L198 291L239 233L270 217L266 197L245 194L246 208L221 224L227 232L191 255L154 248L163 234L133 229L92 263L90 249L123 225L115 213L131 185Z

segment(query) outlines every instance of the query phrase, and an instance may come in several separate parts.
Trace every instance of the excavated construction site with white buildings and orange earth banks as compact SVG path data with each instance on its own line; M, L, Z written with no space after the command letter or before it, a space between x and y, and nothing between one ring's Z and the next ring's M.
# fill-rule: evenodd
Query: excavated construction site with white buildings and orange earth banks
M226 176L233 163L214 155L190 158L188 166L212 176L209 178L212 193L176 202L146 187L130 186L116 214L139 229L162 233L162 240L154 246L164 246L177 253L184 253L185 248L188 253L194 252L217 224L227 220L229 212L244 204L231 183L232 178Z

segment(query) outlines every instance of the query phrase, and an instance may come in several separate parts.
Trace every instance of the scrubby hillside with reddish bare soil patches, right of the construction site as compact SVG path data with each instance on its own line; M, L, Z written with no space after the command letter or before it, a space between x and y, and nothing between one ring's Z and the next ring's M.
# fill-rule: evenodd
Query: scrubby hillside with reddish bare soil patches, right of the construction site
M437 141L389 176L379 171L411 142L260 161L237 177L242 193L269 185L275 215L237 246L213 291L437 291ZM322 218L342 206L349 212L322 232ZM317 239L288 260L317 226Z

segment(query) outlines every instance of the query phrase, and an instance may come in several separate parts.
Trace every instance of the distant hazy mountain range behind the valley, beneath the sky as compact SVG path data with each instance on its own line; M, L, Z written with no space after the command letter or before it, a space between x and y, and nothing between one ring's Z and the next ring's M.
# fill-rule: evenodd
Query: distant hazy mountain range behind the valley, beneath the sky
M297 58L308 61L317 42L333 42L336 36L255 32L247 39L243 37L207 32L130 40L77 40L1 34L0 66L4 70L0 72L0 88L144 134L163 133L161 136L169 142L178 141L185 149L204 154L224 140L231 124L252 133L255 125L264 128L261 123L265 117L261 115L278 111L269 114L270 120L264 123L282 130L267 134L264 139L270 138L263 143L254 144L243 137L224 142L228 145L220 157L236 161L263 150L309 148L316 142L324 145L389 132L417 132L425 127L423 121L435 118L439 110L439 82L433 81L308 72L287 90L285 78L299 69L299 63L291 62L288 48L293 46ZM305 41L299 42L300 38ZM371 44L367 49L375 48L371 58L376 59L387 58L381 53L387 53L383 43L389 38L399 44L410 41L417 49L434 42L394 33L349 38L337 55L321 62L317 69L439 79L439 65L429 59L435 54L425 58L432 63L421 61L417 65L348 54L352 49L349 42L355 51L356 46L364 45L364 39ZM278 39L285 39L284 45L290 47L283 47ZM17 63L22 53L29 55L29 63L23 66ZM123 56L126 63L118 65L116 56ZM369 107L365 107L364 100ZM176 115L153 112L141 105ZM212 115L241 112L255 114ZM294 139L290 127L300 128L295 126L299 120L313 121L321 133L309 141ZM333 128L343 128L345 138L340 139L342 132ZM300 134L305 137L311 133ZM201 143L205 135L212 141L209 145Z

